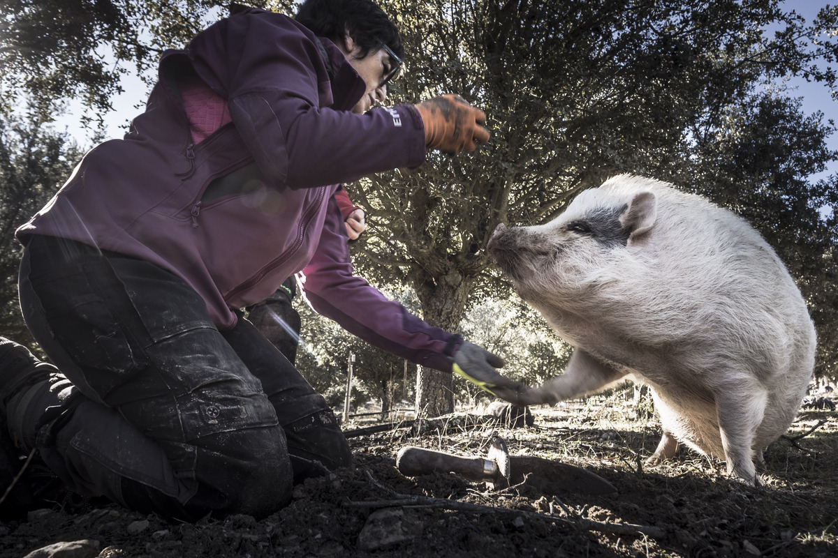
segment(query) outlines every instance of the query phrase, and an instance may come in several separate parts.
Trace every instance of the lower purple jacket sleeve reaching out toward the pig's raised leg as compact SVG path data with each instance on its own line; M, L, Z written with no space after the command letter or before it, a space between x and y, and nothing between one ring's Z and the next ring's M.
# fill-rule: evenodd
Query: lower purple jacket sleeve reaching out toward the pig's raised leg
M422 366L450 372L442 354L455 335L428 325L404 306L386 299L364 279L355 277L349 261L344 222L334 197L317 252L303 269L303 291L309 304L361 339Z

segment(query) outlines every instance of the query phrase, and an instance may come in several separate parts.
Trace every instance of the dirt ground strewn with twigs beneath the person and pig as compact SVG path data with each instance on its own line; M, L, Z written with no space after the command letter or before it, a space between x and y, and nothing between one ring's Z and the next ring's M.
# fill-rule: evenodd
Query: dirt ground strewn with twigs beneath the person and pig
M835 411L801 412L787 438L768 448L757 488L727 479L723 463L685 449L669 463L644 467L660 426L654 417L638 418L626 397L533 412L535 425L525 428L481 423L473 414L422 433L353 435L354 470L309 479L287 508L259 521L236 515L168 523L106 504L38 510L0 523L0 556L838 555ZM493 490L458 474L406 477L396 469L396 453L407 445L485 455L493 431L512 455L577 465L618 492L559 487L546 495L527 484ZM75 541L75 550L44 548Z

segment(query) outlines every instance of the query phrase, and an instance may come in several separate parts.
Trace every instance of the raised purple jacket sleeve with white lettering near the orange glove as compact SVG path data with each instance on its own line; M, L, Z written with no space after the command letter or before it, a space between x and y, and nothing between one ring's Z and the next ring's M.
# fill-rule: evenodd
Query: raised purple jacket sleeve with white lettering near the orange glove
M204 39L206 49L201 39L192 45L195 69L225 89L230 117L269 181L320 187L425 161L422 117L413 105L359 115L335 104L333 87L356 100L364 84L334 44L291 18L256 9L231 16L219 33L224 75L212 71L216 60L202 58L217 52L219 41Z

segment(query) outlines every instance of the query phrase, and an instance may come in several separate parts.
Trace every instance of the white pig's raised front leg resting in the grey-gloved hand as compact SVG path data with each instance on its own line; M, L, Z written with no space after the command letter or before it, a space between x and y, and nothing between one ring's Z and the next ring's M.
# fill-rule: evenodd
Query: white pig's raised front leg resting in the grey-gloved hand
M573 351L571 361L561 376L546 381L541 386L525 387L520 391L493 389L498 397L516 405L539 405L555 403L597 392L608 384L626 375L613 366L598 361L582 349Z

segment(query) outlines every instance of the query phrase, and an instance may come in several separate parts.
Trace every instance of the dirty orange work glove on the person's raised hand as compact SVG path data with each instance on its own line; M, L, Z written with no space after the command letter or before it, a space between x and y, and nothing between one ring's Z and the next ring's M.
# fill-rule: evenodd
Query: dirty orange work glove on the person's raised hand
M459 95L447 94L416 105L425 124L425 145L445 153L474 151L489 141L486 115Z

